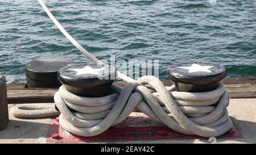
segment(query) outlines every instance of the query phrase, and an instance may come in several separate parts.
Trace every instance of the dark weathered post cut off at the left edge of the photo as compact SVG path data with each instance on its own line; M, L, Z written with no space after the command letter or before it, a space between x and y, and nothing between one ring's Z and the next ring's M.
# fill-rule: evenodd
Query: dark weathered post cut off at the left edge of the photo
M6 79L0 75L0 130L5 129L9 121Z

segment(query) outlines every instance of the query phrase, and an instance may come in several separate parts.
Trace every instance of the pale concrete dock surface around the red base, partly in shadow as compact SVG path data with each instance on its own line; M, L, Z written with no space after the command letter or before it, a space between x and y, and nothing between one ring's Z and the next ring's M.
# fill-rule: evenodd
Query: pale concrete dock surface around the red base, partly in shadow
M49 103L48 103L49 104ZM9 104L9 123L0 131L0 143L46 143L53 118L18 119L11 114ZM256 98L230 99L229 116L242 138L217 139L216 143L256 143ZM192 140L148 140L114 143L210 143L208 139Z

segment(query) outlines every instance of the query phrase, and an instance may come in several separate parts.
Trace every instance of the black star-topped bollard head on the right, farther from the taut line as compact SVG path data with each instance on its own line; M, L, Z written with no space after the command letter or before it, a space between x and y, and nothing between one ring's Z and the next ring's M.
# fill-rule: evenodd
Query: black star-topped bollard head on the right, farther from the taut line
M226 69L209 62L180 62L168 68L167 76L177 91L204 92L221 85Z

